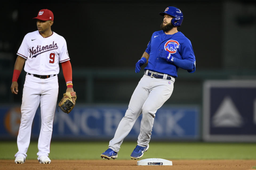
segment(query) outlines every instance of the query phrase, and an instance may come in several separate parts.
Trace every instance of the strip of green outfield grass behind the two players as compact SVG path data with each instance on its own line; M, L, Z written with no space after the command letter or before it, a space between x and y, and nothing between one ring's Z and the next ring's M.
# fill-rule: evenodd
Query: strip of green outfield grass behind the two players
M123 142L118 159L130 159L136 142ZM101 159L108 142L51 142L51 159ZM14 159L16 142L0 142L0 159ZM37 142L31 142L27 159L37 158ZM143 159L256 159L255 143L150 142ZM254 167L255 168L255 167Z

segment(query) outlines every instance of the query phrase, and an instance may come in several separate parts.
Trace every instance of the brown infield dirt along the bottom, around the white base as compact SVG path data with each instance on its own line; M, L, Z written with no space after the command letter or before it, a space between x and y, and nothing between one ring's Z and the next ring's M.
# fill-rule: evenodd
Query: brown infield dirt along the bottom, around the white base
M39 164L37 160L26 160L25 164L15 164L14 160L0 160L0 169L101 169L101 170L146 170L146 169L252 169L256 160L171 160L172 166L138 166L137 160L52 160L51 164ZM255 169L253 169L255 170Z

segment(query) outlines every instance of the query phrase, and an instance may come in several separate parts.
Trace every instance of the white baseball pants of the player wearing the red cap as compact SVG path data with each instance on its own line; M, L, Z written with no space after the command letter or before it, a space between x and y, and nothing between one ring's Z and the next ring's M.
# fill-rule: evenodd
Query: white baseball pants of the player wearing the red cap
M50 142L53 131L53 119L58 98L58 76L40 79L26 75L21 105L21 124L17 138L18 152L16 156L27 157L30 143L31 126L35 112L41 107L41 130L38 139L38 159L50 153Z

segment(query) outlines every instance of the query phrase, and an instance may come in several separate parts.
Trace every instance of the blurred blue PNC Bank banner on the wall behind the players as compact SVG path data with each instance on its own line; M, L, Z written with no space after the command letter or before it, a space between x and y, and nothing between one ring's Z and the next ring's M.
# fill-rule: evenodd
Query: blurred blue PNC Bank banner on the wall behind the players
M126 105L76 105L70 114L56 109L52 139L111 139L126 112ZM20 124L20 106L1 107L0 138L17 137ZM191 105L165 105L155 114L152 140L199 139L199 108ZM137 139L142 115L135 122L128 139ZM38 138L41 129L40 108L35 114L31 137Z

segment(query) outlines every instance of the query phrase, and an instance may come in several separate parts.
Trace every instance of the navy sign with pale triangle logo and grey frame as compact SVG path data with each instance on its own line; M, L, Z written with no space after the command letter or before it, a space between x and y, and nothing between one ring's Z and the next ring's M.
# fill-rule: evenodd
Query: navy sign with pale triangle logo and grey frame
M256 141L256 81L207 81L203 101L206 141Z

